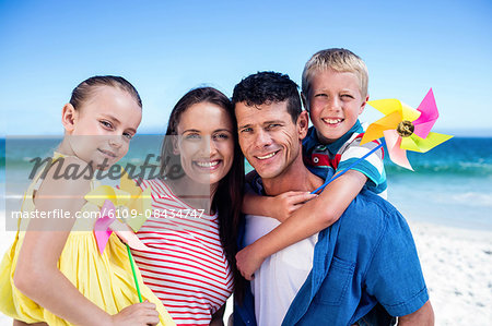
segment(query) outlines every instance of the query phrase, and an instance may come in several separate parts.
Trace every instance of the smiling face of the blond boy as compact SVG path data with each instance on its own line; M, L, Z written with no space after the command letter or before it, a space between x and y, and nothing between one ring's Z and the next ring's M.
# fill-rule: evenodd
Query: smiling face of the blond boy
M324 144L343 136L362 113L368 96L363 98L359 79L351 72L331 69L317 71L305 95L311 121Z

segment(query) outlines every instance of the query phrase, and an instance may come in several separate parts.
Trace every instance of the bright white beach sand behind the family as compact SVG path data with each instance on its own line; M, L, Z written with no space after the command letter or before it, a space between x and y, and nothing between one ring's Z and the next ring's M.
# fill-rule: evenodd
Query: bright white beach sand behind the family
M3 214L3 213L2 213ZM3 256L15 233L0 219ZM458 229L409 220L415 240L436 325L492 323L492 230ZM226 310L229 316L232 307ZM12 325L0 315L0 325Z

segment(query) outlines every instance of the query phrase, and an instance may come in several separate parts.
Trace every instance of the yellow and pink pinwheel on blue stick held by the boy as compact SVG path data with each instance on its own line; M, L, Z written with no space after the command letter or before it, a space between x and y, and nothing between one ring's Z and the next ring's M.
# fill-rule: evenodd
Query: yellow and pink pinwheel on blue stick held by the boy
M407 150L425 153L453 137L450 135L431 132L432 126L440 116L432 88L425 95L417 110L398 99L379 99L367 101L367 104L384 113L385 117L367 126L361 145L377 138L383 138L380 144L354 161L350 167L327 180L313 193L325 189L330 182L345 173L385 144L389 158L395 164L413 170L408 161Z

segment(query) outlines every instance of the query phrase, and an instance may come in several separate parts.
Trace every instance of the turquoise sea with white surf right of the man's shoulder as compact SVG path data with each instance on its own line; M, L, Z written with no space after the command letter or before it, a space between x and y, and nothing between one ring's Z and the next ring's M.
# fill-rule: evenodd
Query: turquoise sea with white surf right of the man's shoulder
M492 230L492 137L454 137L427 153L407 153L414 171L385 157L388 201L403 216Z

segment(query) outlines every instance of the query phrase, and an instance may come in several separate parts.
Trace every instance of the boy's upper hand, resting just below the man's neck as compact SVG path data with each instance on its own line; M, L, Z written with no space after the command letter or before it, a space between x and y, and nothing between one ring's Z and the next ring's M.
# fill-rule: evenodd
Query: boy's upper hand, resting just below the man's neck
M298 209L304 203L317 197L317 194L311 194L304 191L289 191L272 197L272 216L279 221L284 221Z

